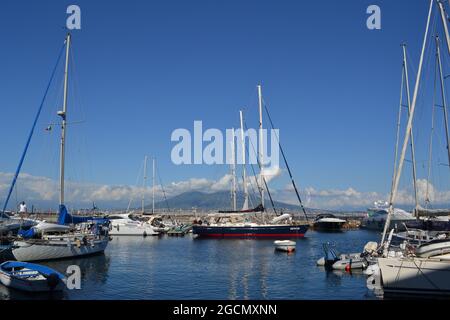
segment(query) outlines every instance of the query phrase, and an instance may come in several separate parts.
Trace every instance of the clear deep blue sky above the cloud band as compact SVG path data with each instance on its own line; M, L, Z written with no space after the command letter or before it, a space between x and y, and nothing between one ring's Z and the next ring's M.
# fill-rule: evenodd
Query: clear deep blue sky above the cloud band
M15 170L77 4L68 178L132 185L144 154L168 183L226 166L175 166L171 132L257 126L256 85L302 188L386 194L401 77L417 68L428 1L9 1L0 4L0 171ZM382 29L366 28L377 4ZM411 71L412 73L412 71ZM412 78L412 77L411 77ZM23 171L56 178L61 72ZM267 123L267 122L266 122ZM274 180L283 188L288 180Z

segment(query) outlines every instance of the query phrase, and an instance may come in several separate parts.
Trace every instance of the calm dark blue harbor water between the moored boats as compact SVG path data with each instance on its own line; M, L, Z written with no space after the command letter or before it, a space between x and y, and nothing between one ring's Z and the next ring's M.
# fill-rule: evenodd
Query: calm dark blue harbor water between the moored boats
M0 285L0 299L376 299L360 272L327 272L316 266L322 244L360 252L378 232L308 231L291 254L273 240L114 237L104 254L42 262L65 273L81 269L81 289L60 294L26 294Z

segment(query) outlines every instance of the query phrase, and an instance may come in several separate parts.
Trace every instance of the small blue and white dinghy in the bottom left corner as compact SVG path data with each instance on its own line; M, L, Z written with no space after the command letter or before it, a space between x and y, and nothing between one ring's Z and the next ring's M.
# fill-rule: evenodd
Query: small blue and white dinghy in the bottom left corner
M65 277L61 273L33 263L7 261L0 264L0 282L8 288L28 292L61 291Z

